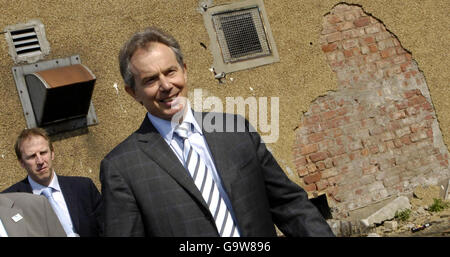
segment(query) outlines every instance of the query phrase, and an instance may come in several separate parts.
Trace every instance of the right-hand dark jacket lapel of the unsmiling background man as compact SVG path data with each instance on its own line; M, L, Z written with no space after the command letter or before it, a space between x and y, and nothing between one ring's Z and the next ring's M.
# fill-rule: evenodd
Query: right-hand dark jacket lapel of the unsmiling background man
M58 176L59 186L61 187L61 192L66 202L67 209L69 210L69 215L72 220L72 225L76 233L79 233L80 220L78 217L78 196L77 192L74 190L73 185L70 181L67 181L66 177Z

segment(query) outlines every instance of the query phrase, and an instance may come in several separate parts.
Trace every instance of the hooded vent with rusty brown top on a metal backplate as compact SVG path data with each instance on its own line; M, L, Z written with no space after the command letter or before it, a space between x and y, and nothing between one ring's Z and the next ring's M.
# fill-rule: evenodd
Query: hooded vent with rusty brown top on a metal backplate
M98 124L91 98L96 81L79 55L12 68L27 128L50 135Z

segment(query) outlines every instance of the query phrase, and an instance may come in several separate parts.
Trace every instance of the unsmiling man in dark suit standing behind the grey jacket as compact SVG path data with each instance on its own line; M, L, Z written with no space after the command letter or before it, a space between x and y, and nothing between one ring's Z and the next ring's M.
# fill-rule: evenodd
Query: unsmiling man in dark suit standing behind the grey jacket
M56 175L55 153L47 133L40 128L25 129L18 136L15 151L28 176L5 192L37 195L49 190L61 224L68 236L96 237L103 232L102 200L91 179Z

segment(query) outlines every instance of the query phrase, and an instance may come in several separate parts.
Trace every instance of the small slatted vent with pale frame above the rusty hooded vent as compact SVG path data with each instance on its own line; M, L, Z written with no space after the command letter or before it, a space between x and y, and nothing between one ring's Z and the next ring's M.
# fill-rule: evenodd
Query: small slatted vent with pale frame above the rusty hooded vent
M8 26L5 32L9 54L15 63L34 63L50 52L44 25L39 20Z

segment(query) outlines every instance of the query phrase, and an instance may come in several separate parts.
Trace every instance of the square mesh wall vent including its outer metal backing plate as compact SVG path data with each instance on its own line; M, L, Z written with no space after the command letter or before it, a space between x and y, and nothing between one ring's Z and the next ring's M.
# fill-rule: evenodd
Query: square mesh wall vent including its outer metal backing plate
M262 0L201 7L216 74L279 61Z

